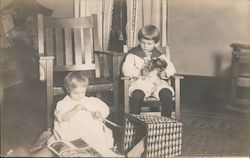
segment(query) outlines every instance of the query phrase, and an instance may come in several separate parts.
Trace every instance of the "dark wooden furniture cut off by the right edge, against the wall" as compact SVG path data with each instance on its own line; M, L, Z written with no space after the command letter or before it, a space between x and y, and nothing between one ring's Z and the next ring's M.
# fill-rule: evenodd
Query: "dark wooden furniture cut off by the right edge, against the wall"
M229 110L249 113L250 107L250 45L231 44L231 93Z

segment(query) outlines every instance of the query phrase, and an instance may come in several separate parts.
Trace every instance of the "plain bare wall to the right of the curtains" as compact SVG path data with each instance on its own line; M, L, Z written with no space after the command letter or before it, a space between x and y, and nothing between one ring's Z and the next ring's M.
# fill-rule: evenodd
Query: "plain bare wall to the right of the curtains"
M169 45L177 73L227 76L232 43L250 43L249 0L169 0Z

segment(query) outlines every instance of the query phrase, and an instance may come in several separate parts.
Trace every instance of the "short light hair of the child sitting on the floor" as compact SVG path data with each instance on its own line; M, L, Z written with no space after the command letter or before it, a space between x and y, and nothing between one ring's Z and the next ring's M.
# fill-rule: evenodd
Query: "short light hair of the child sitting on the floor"
M89 79L81 71L70 72L64 78L64 87L69 92L71 89L75 89L79 86L88 87Z

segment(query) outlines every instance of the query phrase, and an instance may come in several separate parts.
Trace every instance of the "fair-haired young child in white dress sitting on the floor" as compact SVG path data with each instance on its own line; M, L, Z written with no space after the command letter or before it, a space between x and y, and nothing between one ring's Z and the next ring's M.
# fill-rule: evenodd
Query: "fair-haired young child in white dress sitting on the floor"
M109 115L109 107L96 97L87 97L88 78L80 71L70 72L64 80L66 95L57 103L53 136L49 140L72 141L82 138L85 142L113 157L112 131L101 118Z

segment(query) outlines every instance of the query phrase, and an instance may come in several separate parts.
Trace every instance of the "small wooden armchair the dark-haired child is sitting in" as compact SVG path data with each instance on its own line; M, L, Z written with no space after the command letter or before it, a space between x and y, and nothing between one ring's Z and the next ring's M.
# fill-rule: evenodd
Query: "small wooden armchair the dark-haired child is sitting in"
M169 51L167 51L166 47L158 47L161 53L166 54L168 58L170 58ZM124 52L127 53L127 50L129 48L127 46L124 46ZM175 96L173 97L174 105L175 105L175 116L172 113L172 116L174 116L177 120L180 120L180 81L183 79L183 76L180 75L174 75L172 76L168 82L169 84L175 89ZM122 77L122 80L124 80L124 113L129 113L129 77ZM145 97L144 98L144 105L143 107L159 107L161 106L160 101L155 97Z

